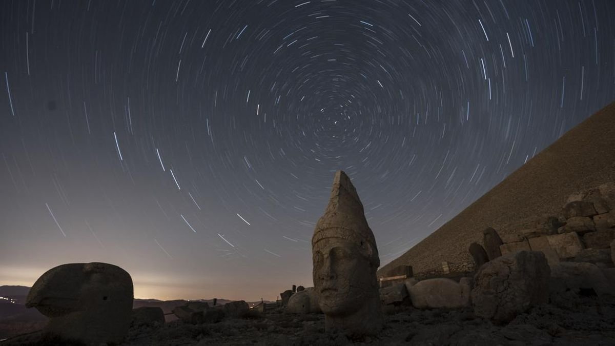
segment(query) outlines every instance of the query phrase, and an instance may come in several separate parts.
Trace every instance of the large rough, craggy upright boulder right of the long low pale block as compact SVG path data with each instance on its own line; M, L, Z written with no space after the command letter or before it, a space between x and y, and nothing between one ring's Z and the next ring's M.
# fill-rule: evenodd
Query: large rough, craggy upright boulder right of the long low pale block
M508 322L549 300L550 269L542 252L520 251L492 260L474 276L474 313Z

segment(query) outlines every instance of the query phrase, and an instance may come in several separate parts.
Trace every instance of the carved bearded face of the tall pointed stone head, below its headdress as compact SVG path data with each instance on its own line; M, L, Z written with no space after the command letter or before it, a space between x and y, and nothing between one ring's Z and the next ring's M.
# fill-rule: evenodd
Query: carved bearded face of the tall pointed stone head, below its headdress
M321 239L312 247L312 259L314 289L322 312L331 316L357 312L370 297L376 270L359 244L343 238Z

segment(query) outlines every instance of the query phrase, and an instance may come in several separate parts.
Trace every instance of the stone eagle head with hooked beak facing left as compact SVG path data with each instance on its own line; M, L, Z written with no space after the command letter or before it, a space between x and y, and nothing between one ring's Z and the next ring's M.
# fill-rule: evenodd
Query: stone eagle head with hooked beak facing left
M44 329L84 344L119 344L132 320L129 273L106 263L63 264L44 273L30 289L26 307L50 318Z

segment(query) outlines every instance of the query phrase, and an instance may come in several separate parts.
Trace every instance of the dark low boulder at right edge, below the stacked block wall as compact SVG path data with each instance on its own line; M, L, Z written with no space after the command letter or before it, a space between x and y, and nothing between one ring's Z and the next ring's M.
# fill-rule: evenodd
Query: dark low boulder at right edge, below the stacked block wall
M559 289L593 289L598 296L613 295L615 287L609 283L606 276L595 264L561 262L551 267L551 277ZM563 287L561 287L563 286Z

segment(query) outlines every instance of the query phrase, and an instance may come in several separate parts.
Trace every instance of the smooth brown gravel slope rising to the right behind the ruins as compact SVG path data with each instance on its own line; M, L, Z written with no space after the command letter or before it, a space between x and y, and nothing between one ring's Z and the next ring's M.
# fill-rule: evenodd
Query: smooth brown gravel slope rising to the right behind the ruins
M615 181L615 102L583 121L456 217L378 271L397 265L421 272L443 261L470 260L482 230L558 214L572 193Z

